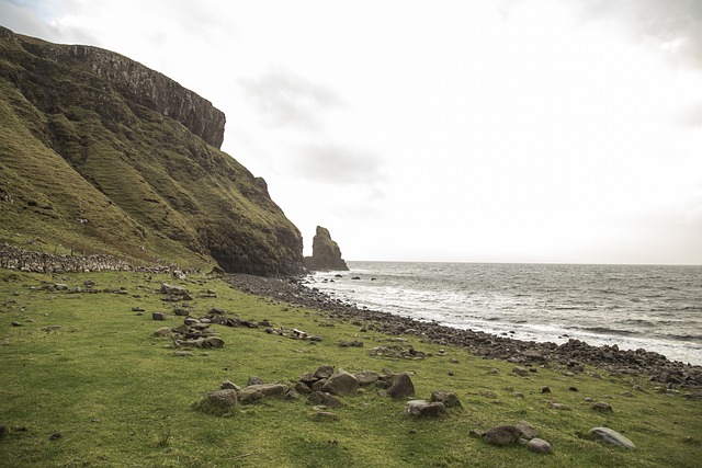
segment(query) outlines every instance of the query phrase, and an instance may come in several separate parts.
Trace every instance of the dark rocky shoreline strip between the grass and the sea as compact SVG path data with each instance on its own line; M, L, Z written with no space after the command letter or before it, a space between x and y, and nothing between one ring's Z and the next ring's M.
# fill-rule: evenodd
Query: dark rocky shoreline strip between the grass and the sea
M229 274L223 276L223 279L245 293L322 310L333 319L358 326L361 331L374 330L389 335L411 334L435 344L457 346L484 358L497 358L519 365L558 364L573 372L580 372L585 365L590 365L615 374L645 375L668 390L702 388L702 366L670 361L653 351L623 351L616 344L593 346L576 339L563 344L521 341L389 312L359 309L314 287L305 286L304 277L274 279Z

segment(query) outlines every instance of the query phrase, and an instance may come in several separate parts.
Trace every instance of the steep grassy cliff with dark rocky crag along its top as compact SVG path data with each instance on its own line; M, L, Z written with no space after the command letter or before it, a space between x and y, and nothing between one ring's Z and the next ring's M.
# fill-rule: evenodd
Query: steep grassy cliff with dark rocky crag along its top
M0 27L0 241L299 273L299 231L219 151L224 123L124 56Z

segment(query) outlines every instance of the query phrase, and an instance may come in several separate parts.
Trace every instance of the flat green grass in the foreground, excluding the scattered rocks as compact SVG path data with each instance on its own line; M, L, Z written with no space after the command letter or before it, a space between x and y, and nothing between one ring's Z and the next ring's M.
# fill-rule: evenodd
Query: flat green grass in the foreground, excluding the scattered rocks
M129 295L31 288L42 281L81 286L87 278L98 288L125 287ZM636 377L597 378L596 369L569 377L554 367L524 378L513 375L510 364L451 347L423 361L373 357L371 347L397 338L359 333L349 323L322 327L329 321L322 312L247 296L217 279L195 279L184 285L195 293L217 292L217 298L193 301L199 313L216 306L242 319L269 319L274 327L320 334L322 341L313 345L261 329L220 327L225 349L177 357L168 340L151 336L165 324L152 321L150 312L169 307L154 293L167 277L93 273L48 278L0 272L0 423L9 427L0 440L0 466L693 467L702 459L702 403L658 393ZM132 312L134 306L146 313ZM11 327L13 321L22 327ZM176 317L166 322L177 323ZM45 331L54 324L60 329ZM362 340L365 347L339 347L341 339ZM406 339L417 350L439 351ZM224 380L246 385L251 375L294 380L325 364L349 372L410 370L418 398L445 389L457 393L464 409L439 420L411 420L403 414L403 402L381 398L373 388L342 398L346 407L335 410L336 422L313 421L303 400L242 406L231 418L190 409ZM489 373L494 367L499 374ZM632 390L634 384L642 390ZM541 393L543 386L552 393ZM611 403L614 412L593 412L586 397ZM550 409L548 400L573 411ZM468 436L471 429L520 420L536 426L552 443L553 455L492 447ZM624 433L638 449L580 436L599 425ZM61 437L50 441L55 432Z

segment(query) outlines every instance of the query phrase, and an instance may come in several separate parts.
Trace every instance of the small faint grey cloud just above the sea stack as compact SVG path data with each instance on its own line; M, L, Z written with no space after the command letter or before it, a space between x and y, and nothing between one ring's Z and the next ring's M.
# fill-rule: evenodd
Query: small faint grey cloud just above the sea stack
M383 159L372 151L337 145L307 146L299 150L295 170L305 179L330 184L367 185L383 196L377 184L386 180Z

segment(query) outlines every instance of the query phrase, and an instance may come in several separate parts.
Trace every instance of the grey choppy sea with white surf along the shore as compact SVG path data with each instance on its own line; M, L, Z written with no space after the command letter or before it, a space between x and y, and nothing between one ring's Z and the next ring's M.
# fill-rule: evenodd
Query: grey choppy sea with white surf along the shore
M347 262L308 287L359 308L702 365L702 266Z

